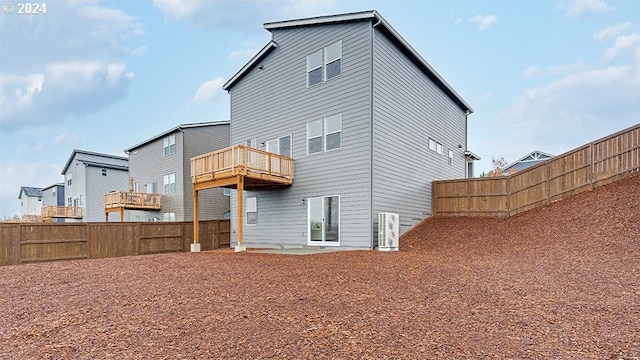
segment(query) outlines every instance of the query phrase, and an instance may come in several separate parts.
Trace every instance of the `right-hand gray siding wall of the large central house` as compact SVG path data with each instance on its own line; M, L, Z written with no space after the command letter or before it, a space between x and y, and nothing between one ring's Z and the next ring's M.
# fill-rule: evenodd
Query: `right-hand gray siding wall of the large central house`
M466 115L378 31L373 67L373 223L398 213L404 232L431 214L431 181L465 177Z

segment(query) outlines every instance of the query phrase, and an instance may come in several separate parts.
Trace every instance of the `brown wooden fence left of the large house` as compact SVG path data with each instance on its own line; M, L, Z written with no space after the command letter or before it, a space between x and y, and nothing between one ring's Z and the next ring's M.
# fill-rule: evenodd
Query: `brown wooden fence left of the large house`
M199 231L202 250L229 246L229 220ZM182 252L192 242L192 222L0 224L0 265Z

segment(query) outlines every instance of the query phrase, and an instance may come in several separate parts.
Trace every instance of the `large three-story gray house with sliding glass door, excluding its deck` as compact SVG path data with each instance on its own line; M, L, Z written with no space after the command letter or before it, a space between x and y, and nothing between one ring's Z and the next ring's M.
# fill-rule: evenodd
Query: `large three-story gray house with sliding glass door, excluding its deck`
M431 182L473 160L471 107L376 11L264 27L272 40L223 86L231 144L292 157L294 173L244 191L246 247L374 248L378 213L401 232L430 216Z

